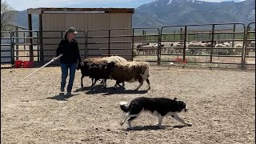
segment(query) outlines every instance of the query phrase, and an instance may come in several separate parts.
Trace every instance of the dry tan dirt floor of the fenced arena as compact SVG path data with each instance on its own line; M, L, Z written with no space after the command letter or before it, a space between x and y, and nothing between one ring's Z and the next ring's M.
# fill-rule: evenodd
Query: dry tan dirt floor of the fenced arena
M1 70L1 143L184 143L234 144L255 142L255 71L150 67L146 82L126 83L126 90L80 89L80 71L70 98L59 95L60 67L46 67L22 81L34 69ZM98 82L99 83L99 82ZM179 98L189 110L179 114L193 126L143 113L127 130L119 125L120 101L138 97Z

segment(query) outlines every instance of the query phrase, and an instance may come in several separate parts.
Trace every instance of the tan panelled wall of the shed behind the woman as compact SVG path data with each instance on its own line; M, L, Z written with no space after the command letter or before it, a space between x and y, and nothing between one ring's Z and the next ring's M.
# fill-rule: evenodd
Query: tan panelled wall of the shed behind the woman
M77 40L82 58L85 58L85 33L82 31L90 31L89 37L108 36L108 30L99 29L114 29L114 28L131 28L131 15L129 13L111 14L111 13L43 13L42 14L42 31L59 31L59 32L43 32L43 50L46 61L54 56L61 41L64 31L70 26L78 30ZM62 31L62 32L61 32ZM131 34L131 30L111 31L110 35L125 35ZM126 42L131 38L111 38L114 42ZM99 56L107 54L106 49L108 44L95 44L96 42L108 42L108 38L89 38L88 54ZM131 41L130 41L131 42ZM130 48L130 44L111 44L110 48ZM111 50L110 54L122 55L131 54L131 50ZM127 57L128 58L128 57ZM128 59L130 59L129 57Z

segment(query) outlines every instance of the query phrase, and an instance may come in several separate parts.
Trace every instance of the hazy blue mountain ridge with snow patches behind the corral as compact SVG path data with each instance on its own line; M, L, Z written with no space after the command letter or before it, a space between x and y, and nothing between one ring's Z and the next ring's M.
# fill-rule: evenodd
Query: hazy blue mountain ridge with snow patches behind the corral
M33 30L38 16L32 15ZM255 22L255 0L242 2L205 2L198 0L155 0L138 6L133 27L161 27L187 24ZM27 27L26 10L17 11L14 23Z

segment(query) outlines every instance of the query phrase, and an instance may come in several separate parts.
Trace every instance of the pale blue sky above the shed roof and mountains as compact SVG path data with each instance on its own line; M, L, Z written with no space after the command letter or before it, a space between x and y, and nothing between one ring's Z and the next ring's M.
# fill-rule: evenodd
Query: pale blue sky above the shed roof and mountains
M26 10L37 7L127 7L136 8L154 0L6 0L15 10ZM223 2L231 0L204 0ZM243 0L234 0L240 2Z

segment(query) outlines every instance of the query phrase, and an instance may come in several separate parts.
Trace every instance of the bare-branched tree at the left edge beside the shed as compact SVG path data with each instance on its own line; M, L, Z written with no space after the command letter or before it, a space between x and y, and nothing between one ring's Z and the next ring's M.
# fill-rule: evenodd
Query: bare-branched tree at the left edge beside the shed
M6 1L1 1L1 38L3 37L2 31L11 30L10 22L14 18L14 8Z

